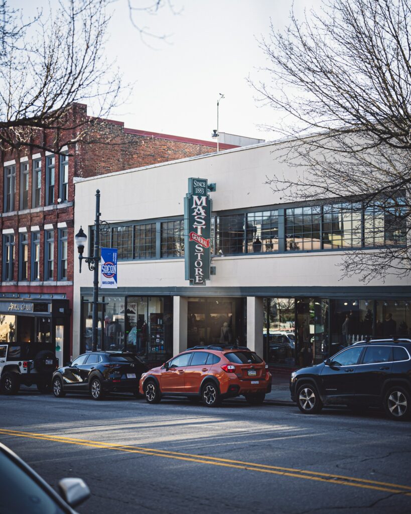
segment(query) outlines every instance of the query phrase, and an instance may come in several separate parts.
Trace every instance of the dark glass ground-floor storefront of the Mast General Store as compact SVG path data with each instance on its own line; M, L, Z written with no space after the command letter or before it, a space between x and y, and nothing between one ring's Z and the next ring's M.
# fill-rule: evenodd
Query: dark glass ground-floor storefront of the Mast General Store
M92 296L91 288L81 292L82 353L91 350ZM250 298L262 308L253 320ZM183 316L174 312L176 301L186 306ZM250 345L248 325L256 319ZM184 347L222 343L249 345L270 366L287 370L321 362L367 336L411 337L411 298L400 286L118 288L99 299L98 334L100 349L126 348L152 365Z

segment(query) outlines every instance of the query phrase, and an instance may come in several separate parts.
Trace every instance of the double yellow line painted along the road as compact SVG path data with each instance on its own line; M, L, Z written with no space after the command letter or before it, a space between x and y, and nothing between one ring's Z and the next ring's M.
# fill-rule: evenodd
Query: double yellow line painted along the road
M228 458L210 457L204 455L195 455L191 453L173 452L168 450L157 450L154 448L145 448L139 446L111 445L107 443L101 443L98 441L90 441L87 439L73 439L70 437L62 437L59 435L37 434L31 432L21 432L17 430L0 429L0 434L14 437L25 437L30 439L41 439L68 445L116 450L126 453L140 453L143 455L172 458L178 461L196 462L199 464L207 464L212 466L223 466L227 468L242 469L247 471L257 471L259 473L270 473L274 475L290 476L292 478L298 479L314 480L317 482L327 482L332 484L360 487L363 489L373 489L376 491L384 491L411 496L410 486L392 484L389 482L378 482L376 480L359 479L353 476L321 473L319 471L309 471L305 469L284 468L281 466L269 466L266 464L258 464L255 462L234 461Z

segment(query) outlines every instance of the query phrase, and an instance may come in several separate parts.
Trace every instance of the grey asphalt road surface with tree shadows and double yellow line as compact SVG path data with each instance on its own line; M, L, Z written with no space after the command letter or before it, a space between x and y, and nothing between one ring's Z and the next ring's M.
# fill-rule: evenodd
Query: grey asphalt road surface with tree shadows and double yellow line
M0 396L0 441L54 487L83 478L81 513L409 513L410 429L378 411L242 400Z

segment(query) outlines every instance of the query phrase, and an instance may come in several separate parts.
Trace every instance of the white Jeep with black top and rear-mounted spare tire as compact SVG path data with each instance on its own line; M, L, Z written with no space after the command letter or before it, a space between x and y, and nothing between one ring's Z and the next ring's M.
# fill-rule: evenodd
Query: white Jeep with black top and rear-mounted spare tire
M36 384L41 393L51 388L58 360L40 343L0 343L0 392L16 394L21 384Z

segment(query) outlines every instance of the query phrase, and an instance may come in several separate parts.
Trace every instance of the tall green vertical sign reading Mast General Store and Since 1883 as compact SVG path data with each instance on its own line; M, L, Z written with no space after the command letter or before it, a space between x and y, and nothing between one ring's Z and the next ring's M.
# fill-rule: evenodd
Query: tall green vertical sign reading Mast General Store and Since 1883
M205 286L210 280L211 198L205 178L189 178L184 198L185 280Z

